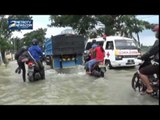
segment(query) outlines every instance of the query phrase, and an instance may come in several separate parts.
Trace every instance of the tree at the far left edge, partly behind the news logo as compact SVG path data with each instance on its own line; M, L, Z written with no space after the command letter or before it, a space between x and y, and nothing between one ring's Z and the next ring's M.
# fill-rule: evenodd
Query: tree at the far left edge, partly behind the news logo
M1 15L0 19L0 52L2 54L3 62L6 63L5 59L5 51L11 49L11 42L10 38L12 35L12 30L8 29L8 20L15 19L15 20L25 20L31 19L29 15Z

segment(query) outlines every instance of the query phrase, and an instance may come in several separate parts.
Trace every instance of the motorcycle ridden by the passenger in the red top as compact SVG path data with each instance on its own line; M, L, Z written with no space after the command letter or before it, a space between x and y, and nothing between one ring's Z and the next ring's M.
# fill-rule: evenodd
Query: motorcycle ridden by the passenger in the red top
M90 60L90 55L89 52L84 52L84 62L88 62ZM85 67L86 72L89 71L88 68ZM106 72L106 66L104 64L104 62L102 61L97 61L91 69L91 76L95 76L95 77L104 77L104 73Z

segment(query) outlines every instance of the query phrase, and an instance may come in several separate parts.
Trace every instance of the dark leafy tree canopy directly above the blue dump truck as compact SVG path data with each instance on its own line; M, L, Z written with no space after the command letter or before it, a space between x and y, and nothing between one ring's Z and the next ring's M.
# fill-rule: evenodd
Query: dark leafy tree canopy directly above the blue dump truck
M97 24L94 15L51 15L50 27L72 27L78 34L88 36Z

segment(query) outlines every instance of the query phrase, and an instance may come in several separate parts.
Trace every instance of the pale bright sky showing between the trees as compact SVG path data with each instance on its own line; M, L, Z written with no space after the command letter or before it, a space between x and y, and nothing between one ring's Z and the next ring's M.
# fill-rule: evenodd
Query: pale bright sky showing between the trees
M159 24L159 15L138 15L138 19L145 20L150 23ZM49 15L32 15L33 19L33 30L37 30L38 28L47 28L46 38L51 37L51 35L60 34L61 31L70 28L70 27L48 27L47 25L51 23L49 20ZM31 32L32 30L22 30L21 32L13 32L12 37L23 38L25 33ZM139 33L140 42L143 45L153 45L155 42L155 33L151 30L144 30L142 33Z

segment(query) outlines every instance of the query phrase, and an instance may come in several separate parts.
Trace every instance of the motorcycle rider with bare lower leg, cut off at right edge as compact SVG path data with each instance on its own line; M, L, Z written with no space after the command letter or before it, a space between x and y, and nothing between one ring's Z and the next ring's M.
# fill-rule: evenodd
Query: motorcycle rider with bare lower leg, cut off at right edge
M155 25L152 31L156 32L157 40L155 41L154 45L149 49L149 51L147 51L145 54L141 56L141 59L147 60L149 57L154 56L153 60L158 64L151 64L139 70L139 76L142 82L146 85L146 92L148 94L153 92L153 88L150 85L149 78L147 77L147 75L153 75L156 73L159 79L159 25Z

